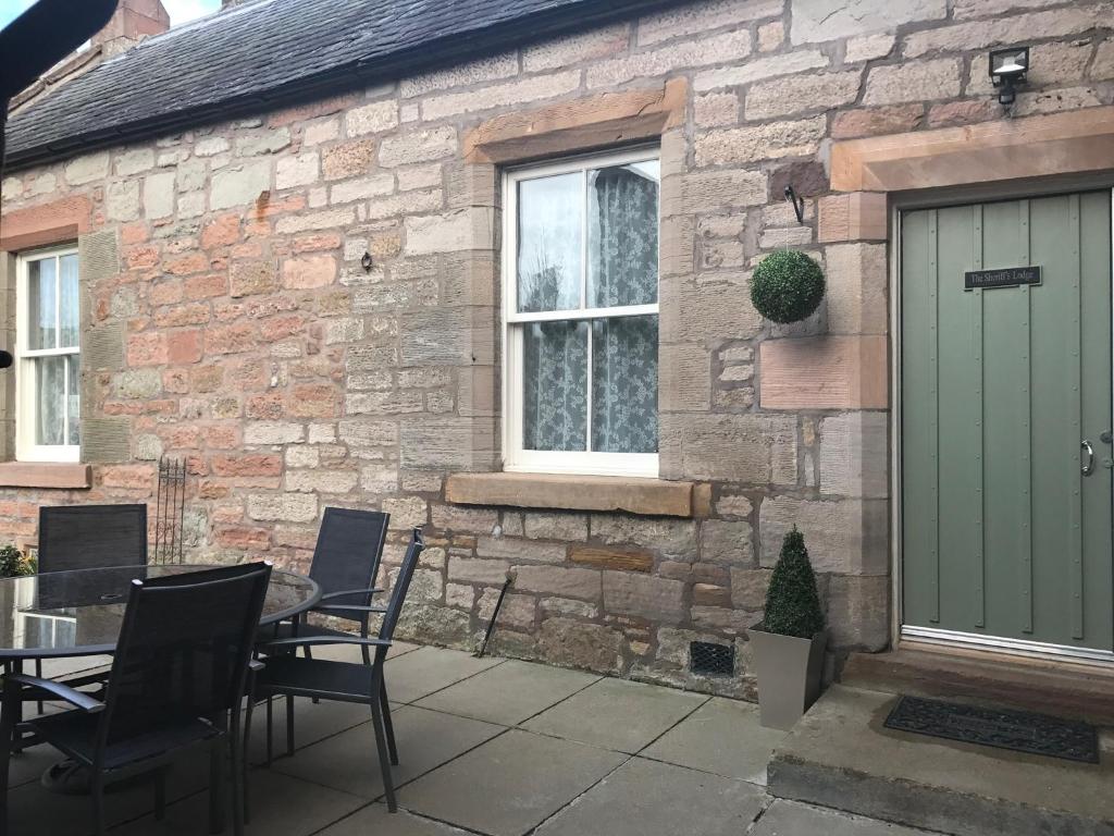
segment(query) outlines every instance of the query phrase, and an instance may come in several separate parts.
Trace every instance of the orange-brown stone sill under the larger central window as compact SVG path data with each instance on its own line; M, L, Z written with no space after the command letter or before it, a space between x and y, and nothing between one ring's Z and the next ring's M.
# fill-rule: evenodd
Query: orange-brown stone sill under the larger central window
M458 505L693 516L693 483L625 476L461 473L449 476L444 497Z

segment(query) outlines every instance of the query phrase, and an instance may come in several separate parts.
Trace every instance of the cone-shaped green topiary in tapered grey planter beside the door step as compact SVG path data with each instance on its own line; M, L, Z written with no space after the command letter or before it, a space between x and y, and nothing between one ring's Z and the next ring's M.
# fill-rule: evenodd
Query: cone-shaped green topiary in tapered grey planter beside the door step
M788 730L820 696L828 644L817 576L795 525L782 541L766 590L765 615L750 639L762 725Z

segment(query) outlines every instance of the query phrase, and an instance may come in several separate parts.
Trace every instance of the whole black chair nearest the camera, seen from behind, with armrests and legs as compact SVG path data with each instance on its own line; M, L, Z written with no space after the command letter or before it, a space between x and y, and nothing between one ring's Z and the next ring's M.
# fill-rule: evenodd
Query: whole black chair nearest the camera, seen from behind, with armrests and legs
M4 677L0 715L0 836L8 824L8 767L25 689L46 691L74 710L22 727L90 770L97 836L106 828L104 789L137 774L155 779L155 816L166 807L166 770L186 749L209 748L209 828L224 829L224 746L232 759L234 826L243 833L241 704L271 565L133 581L104 701L61 682ZM247 736L243 736L246 743Z

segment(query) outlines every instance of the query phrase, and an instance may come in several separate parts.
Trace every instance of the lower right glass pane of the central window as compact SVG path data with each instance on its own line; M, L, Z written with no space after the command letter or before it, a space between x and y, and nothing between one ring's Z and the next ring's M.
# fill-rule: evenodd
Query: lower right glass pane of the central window
M592 449L657 453L657 317L592 323Z

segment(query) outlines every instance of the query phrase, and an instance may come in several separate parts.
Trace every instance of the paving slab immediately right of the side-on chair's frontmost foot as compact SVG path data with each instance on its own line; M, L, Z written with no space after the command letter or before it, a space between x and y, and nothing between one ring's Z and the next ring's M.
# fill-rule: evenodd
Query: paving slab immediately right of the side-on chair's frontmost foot
M407 809L491 834L521 836L626 756L518 729L402 788Z

